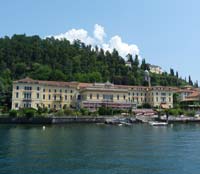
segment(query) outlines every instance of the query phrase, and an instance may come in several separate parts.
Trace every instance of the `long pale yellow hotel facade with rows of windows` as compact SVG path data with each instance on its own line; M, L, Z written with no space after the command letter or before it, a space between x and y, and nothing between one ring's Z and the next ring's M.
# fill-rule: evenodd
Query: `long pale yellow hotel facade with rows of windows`
M25 78L13 82L12 109L46 107L48 109L99 107L127 110L145 103L152 107L172 108L176 88L163 86L127 86L106 83L42 81Z

